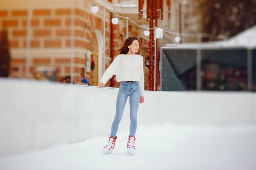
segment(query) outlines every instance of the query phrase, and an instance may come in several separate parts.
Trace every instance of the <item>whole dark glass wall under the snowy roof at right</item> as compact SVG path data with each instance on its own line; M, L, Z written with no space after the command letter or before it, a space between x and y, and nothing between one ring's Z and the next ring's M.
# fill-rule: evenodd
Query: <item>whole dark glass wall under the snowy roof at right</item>
M160 72L162 91L255 92L256 49L162 48Z

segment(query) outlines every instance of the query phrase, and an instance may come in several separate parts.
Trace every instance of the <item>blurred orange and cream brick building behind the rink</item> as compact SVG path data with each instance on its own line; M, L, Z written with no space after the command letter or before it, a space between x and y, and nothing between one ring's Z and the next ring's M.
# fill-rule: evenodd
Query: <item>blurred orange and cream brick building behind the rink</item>
M180 12L188 4L184 0L163 0L163 3L164 17L159 19L159 27L176 32L184 29L181 20L184 16ZM99 6L99 12L92 13L93 4ZM116 14L123 18L118 16L119 23L113 25L111 18ZM150 47L149 38L141 28L148 27L145 15L138 19L138 1L129 0L7 0L0 2L0 31L7 31L10 70L18 67L22 76L33 79L35 70L51 67L56 69L56 81L72 76L74 83L81 84L81 78L85 77L90 85L98 85L127 36L139 38L139 54L146 60ZM159 40L159 46L173 43L174 36L166 34ZM146 65L144 73L145 89L149 89ZM111 86L117 87L113 82ZM110 81L106 86L110 86Z

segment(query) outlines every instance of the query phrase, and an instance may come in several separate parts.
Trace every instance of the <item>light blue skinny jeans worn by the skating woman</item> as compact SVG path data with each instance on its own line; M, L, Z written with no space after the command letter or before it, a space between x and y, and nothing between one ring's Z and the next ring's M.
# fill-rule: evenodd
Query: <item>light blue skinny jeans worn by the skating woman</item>
M116 115L111 126L110 137L112 138L115 138L117 134L118 125L122 119L128 96L130 96L130 136L135 137L140 97L139 82L130 83L122 81L117 94Z

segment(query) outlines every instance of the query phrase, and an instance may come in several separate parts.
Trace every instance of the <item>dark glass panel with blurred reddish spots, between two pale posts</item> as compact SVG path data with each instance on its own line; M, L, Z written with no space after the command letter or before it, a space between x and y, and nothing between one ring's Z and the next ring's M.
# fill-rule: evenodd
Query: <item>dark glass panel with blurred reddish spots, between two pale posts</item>
M202 90L247 90L247 49L203 49Z

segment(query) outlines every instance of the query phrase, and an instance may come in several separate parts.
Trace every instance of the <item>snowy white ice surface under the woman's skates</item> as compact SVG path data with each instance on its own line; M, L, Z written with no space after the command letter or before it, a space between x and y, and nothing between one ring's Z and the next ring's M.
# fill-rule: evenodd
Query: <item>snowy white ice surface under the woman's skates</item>
M0 157L0 170L256 170L255 125L139 125L136 152L126 151L128 130L108 137Z

